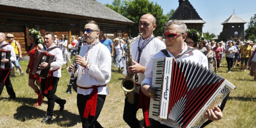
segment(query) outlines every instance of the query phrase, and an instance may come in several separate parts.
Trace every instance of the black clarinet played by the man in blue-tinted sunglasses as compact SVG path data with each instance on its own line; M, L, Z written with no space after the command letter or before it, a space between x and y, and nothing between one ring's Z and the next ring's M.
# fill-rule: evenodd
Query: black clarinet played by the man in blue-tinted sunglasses
M82 46L82 43L84 42L84 36L82 36L82 38L80 39L79 41L79 45L78 45L78 49L75 53L75 55L79 55L80 53L80 49L81 49L81 46ZM72 94L71 93L71 88L73 87L73 89L75 90L75 92L77 92L77 85L76 85L76 77L74 76L75 75L75 69L77 67L76 63L75 63L75 60L73 61L73 65L74 65L74 69L73 71L71 72L71 77L70 77L70 81L69 81L69 85L68 85L68 89L66 91L66 93L68 94ZM74 83L75 82L75 83Z

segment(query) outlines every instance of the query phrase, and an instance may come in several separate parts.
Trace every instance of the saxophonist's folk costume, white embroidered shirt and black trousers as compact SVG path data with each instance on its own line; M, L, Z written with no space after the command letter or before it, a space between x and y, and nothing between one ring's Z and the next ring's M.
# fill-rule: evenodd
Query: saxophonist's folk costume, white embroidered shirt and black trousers
M130 44L130 53L133 61L139 62L141 66L146 67L150 58L160 51L161 49L165 49L165 44L159 40L158 38L155 38L154 35L151 35L149 38L143 40L142 38L137 39L136 41L132 42ZM140 52L140 59L139 59L139 50ZM126 62L124 62L124 72L123 74L126 74ZM134 75L136 78L135 83L135 102L133 104L130 104L127 101L127 97L125 99L125 107L124 107L124 120L130 127L139 127L139 120L136 118L136 113L139 108L142 108L143 112L147 108L143 108L143 100L149 100L149 97L143 95L142 91L140 90L140 84L141 81L144 79L143 73L137 73ZM139 93L140 92L140 93ZM145 99L148 98L148 99ZM143 100L142 100L143 99ZM144 113L143 113L144 115ZM146 126L149 126L148 124L148 118L144 117Z

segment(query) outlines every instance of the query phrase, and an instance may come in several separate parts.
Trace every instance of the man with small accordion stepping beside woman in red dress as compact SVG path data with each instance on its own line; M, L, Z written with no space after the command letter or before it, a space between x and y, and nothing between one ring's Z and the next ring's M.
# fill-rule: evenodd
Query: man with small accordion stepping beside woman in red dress
M53 118L53 109L55 102L59 104L59 111L63 111L66 100L63 100L55 95L57 90L57 85L59 82L59 78L61 77L61 66L63 65L62 51L61 49L54 44L54 34L46 33L44 35L44 48L43 51L46 51L52 55L54 55L54 60L51 63L51 69L49 71L48 77L45 79L41 79L41 88L43 96L47 97L48 107L47 112L44 118L42 119L42 123L45 123ZM47 62L42 62L40 65L40 69L45 69L48 66Z

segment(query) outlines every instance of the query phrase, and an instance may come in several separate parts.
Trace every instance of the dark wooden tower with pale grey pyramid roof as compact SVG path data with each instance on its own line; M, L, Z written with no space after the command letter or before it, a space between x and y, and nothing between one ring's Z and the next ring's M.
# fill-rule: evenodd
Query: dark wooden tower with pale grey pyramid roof
M229 40L241 40L244 41L244 24L246 21L238 17L236 14L232 14L222 25L222 37L225 42Z

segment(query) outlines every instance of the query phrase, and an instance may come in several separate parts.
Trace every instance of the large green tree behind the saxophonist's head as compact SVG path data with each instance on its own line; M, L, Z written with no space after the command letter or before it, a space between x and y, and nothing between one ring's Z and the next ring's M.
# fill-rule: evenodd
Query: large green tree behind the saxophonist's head
M118 12L124 17L134 22L131 25L131 36L135 37L139 33L139 20L144 14L152 14L156 18L156 29L154 35L162 35L165 29L165 23L168 21L168 15L163 15L163 9L160 5L148 0L114 0L112 5L106 4L110 9ZM170 11L171 12L171 11Z

